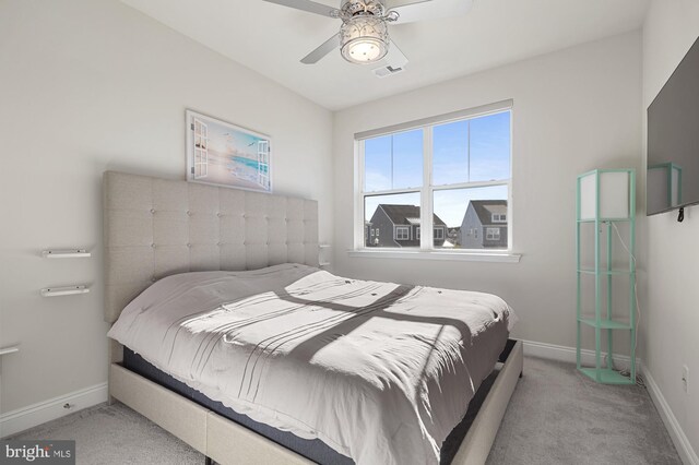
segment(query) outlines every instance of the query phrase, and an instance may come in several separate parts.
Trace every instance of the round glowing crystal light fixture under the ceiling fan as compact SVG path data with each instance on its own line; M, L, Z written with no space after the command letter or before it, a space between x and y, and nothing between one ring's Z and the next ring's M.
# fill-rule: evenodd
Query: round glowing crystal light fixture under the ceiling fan
M389 28L386 21L374 15L356 15L345 20L340 28L340 51L351 63L371 63L389 51Z

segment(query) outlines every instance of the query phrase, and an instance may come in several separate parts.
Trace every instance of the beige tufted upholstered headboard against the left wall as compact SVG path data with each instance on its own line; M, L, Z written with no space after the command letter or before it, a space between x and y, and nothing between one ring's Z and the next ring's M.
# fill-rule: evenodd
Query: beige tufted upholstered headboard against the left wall
M311 200L106 171L105 321L176 273L318 266Z

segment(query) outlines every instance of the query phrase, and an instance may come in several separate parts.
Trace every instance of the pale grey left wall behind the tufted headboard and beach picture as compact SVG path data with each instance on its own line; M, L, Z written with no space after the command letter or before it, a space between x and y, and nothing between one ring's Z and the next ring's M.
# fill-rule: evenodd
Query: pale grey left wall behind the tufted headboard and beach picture
M106 381L102 172L183 179L186 108L270 134L275 191L333 236L331 112L119 1L0 1L0 82L2 413ZM68 247L94 255L39 257Z

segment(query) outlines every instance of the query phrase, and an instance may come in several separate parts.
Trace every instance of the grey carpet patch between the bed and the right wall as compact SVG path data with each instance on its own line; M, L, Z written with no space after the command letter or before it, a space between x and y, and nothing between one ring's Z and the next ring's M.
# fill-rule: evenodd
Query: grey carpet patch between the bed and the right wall
M682 461L644 388L597 384L570 363L525 357L487 464Z

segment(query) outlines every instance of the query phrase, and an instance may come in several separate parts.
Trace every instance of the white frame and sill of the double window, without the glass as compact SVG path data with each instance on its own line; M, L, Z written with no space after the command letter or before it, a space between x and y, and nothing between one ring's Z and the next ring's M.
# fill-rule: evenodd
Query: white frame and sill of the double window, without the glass
M479 117L485 117L488 115L499 114L509 111L510 114L510 177L508 179L495 180L495 181L475 181L475 182L462 182L462 183L453 183L453 184L443 184L443 186L434 186L431 183L433 178L433 129L435 126L446 124L450 122L455 122L460 120L466 119L475 119ZM381 248L381 251L377 249L368 250L364 245L364 231L359 233L360 225L364 224L364 205L365 205L365 196L367 195L390 195L390 194L402 194L402 193L415 193L418 192L420 194L420 223L427 225L425 233L419 235L419 258L434 258L436 260L442 260L445 254L453 255L478 255L473 260L477 261L506 261L506 262L519 262L520 254L513 253L513 225L512 225L512 127L513 127L513 117L514 109L512 100L503 100L498 102L496 104L484 105L482 107L471 108L461 111L454 111L451 114L425 118L416 121L411 121L406 123L395 124L387 128L381 128L371 131L365 131L355 134L355 234L354 234L354 249L350 251L351 257L362 257L364 253L376 253L383 254L382 251L391 252L383 255L391 255L395 258L417 258L415 251L405 251L405 249L400 248ZM388 189L381 191L364 191L364 167L365 167L365 154L364 154L364 141L368 139L378 138L381 135L389 135L399 132L412 131L415 129L423 130L423 186L417 189ZM508 199L507 199L507 216L506 218L510 218L510 223L508 225L508 247L507 249L501 250L493 250L484 253L479 249L441 249L435 248L434 246L434 194L440 190L455 190L455 189L466 189L466 188L482 188L482 187L494 187L494 186L507 186L508 190ZM506 222L507 223L507 222ZM378 236L378 230L377 230ZM400 252L399 252L400 251ZM394 253L393 253L394 252ZM402 257L404 254L405 257ZM428 254L433 254L435 257L426 257ZM439 257L437 257L437 254ZM465 260L470 260L464 257ZM491 260L489 260L491 259Z

